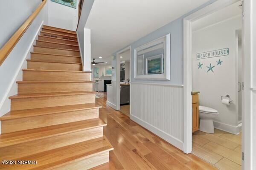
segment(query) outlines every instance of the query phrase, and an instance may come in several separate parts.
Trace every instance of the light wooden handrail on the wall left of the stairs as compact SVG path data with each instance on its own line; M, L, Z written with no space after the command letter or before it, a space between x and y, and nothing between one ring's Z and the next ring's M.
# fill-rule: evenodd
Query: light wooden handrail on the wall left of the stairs
M20 40L22 35L26 32L29 28L35 17L38 13L42 10L44 5L46 4L47 0L43 0L41 4L35 9L35 11L28 17L28 19L20 26L20 28L12 35L12 37L3 45L0 49L0 66L4 62L4 60L8 57L12 49L15 47L17 42Z

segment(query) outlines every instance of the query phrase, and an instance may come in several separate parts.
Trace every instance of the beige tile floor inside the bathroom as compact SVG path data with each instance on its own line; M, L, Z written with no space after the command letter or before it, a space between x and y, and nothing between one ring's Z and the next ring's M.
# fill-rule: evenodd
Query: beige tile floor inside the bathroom
M242 133L234 135L215 129L213 134L196 131L192 153L220 170L241 170Z

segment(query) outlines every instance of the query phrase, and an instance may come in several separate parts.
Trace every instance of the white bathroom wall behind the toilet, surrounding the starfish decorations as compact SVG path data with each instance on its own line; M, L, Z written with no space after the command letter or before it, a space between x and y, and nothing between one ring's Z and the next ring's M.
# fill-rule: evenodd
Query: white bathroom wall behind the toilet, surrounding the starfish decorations
M192 34L192 89L200 91L199 105L218 110L219 115L214 119L216 128L237 133L236 105L236 30L241 29L241 17L235 17L214 26L194 31ZM229 55L196 59L197 53L229 48ZM223 61L217 65L219 59ZM198 69L198 63L203 63ZM212 66L214 73L206 66ZM221 96L230 95L233 102L230 106L221 103Z

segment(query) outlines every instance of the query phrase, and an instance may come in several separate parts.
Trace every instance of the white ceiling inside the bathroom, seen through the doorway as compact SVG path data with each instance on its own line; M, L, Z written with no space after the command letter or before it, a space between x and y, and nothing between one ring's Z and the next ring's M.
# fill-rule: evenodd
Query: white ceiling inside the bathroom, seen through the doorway
M236 17L238 15L241 16L242 10L241 8L239 8L239 5L241 5L241 1L233 3L230 6L224 7L212 14L209 14L199 20L196 20L192 23L193 31L206 28L208 26L230 19L232 17Z

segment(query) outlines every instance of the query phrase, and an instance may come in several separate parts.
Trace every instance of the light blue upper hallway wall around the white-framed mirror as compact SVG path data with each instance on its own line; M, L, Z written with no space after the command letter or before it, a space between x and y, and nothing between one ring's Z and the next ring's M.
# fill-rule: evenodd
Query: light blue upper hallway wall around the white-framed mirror
M131 44L131 82L152 82L152 80L138 80L134 79L134 49L143 45L147 42L155 40L159 37L163 37L166 34L171 34L171 59L170 59L170 81L159 81L154 80L154 83L162 84L173 84L173 85L183 85L183 18L189 14L198 11L199 9L215 2L216 0L210 0L204 5L190 11L189 13L183 15L177 20L153 31L152 33L146 35L145 37L133 42ZM129 45L128 45L129 46ZM124 47L125 48L125 47ZM121 50L121 49L120 49ZM118 51L120 51L118 50ZM116 57L116 53L113 55Z

